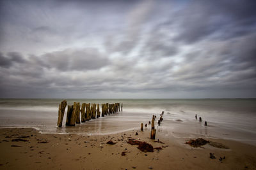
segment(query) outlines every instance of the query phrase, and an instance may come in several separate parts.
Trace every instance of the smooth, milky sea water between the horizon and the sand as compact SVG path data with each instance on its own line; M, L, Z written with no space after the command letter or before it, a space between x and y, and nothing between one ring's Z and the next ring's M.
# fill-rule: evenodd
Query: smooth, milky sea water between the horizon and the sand
M256 145L256 99L66 99L72 103L123 103L123 111L76 127L56 127L63 99L0 99L0 127L34 127L43 133L113 134L140 129L164 111L157 131L166 138L221 138ZM101 110L101 106L100 106ZM200 123L195 119L202 117ZM204 121L208 126L204 126ZM147 128L150 128L149 126Z

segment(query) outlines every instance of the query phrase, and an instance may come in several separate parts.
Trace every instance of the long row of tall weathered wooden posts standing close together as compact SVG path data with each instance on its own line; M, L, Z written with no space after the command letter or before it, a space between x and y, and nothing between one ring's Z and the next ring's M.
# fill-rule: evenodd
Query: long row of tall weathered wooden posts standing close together
M67 106L67 101L61 101L59 104L59 112L58 112L58 122L57 126L61 127L63 122L63 117L65 113L65 108ZM101 104L101 116L104 117L105 115L116 113L120 111L120 103L109 104L104 103ZM123 104L121 104L121 111L123 111ZM67 120L66 126L74 126L76 124L80 124L80 113L81 113L81 122L86 122L91 118L99 118L100 117L100 107L99 104L90 104L90 103L83 103L80 106L80 103L74 102L73 105L68 105L67 111Z

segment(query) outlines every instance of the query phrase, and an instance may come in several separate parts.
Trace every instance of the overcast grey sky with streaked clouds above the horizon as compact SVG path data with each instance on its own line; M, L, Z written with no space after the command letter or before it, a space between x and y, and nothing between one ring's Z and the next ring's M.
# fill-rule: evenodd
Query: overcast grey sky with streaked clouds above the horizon
M256 97L255 0L0 0L0 97Z

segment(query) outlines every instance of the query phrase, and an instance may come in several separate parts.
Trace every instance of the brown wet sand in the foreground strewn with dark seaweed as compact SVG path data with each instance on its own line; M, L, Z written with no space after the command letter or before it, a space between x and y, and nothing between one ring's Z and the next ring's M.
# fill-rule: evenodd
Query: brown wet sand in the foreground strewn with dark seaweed
M256 169L256 147L252 145L208 139L229 149L209 144L193 148L185 144L188 139L165 136L161 131L157 131L156 139L163 143L149 137L150 128L140 131L140 125L138 131L104 136L41 134L31 128L0 129L0 169ZM141 152L136 145L127 143L130 138L163 149ZM106 144L110 139L116 144ZM210 152L216 159L210 159Z

